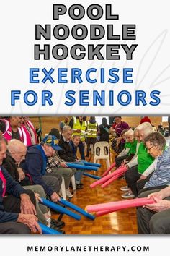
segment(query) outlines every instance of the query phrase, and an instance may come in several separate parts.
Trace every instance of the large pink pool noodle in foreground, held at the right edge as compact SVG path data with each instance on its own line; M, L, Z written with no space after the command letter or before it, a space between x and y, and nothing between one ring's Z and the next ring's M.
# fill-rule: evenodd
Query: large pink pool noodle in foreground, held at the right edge
M89 213L105 211L105 214L106 214L106 212L107 213L111 212L111 210L112 212L114 212L115 210L147 205L153 202L155 202L153 198L148 199L147 197L143 197L143 198L135 198L135 199L117 201L117 202L106 202L98 205L87 205L86 210Z

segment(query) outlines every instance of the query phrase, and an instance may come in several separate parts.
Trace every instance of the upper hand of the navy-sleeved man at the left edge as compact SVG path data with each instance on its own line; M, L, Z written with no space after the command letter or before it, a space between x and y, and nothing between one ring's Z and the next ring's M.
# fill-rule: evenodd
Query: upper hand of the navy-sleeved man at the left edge
M36 215L37 213L35 210L35 206L31 202L29 195L21 194L20 197L21 197L21 206L20 206L21 213Z

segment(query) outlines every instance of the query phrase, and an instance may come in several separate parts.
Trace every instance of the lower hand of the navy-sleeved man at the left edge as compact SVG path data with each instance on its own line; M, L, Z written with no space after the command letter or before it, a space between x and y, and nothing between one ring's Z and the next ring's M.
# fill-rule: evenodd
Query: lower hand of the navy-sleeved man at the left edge
M37 223L37 217L32 214L19 213L17 222L27 225L33 233L38 231L40 234L42 234L42 230Z

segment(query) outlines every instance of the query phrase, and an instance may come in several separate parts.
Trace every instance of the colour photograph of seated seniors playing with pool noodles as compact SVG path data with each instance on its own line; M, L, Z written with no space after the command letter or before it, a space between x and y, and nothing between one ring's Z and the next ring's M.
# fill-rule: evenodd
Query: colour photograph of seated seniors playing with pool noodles
M0 234L170 234L170 116L1 116Z

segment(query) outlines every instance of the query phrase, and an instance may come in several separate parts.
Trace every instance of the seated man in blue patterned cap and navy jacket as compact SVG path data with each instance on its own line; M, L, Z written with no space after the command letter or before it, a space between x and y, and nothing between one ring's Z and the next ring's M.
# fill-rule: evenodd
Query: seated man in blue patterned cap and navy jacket
M57 138L53 135L48 135L40 145L32 145L27 148L25 161L21 163L24 171L30 174L33 184L41 185L53 202L60 200L58 192L61 188L62 177L60 174L47 174L45 168L48 157L53 156L55 150L60 149Z

